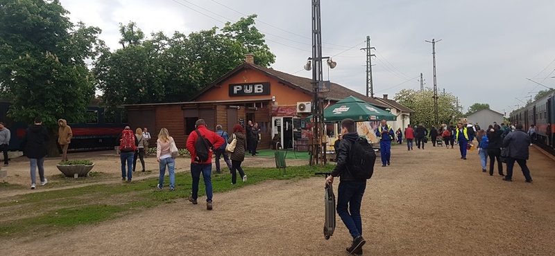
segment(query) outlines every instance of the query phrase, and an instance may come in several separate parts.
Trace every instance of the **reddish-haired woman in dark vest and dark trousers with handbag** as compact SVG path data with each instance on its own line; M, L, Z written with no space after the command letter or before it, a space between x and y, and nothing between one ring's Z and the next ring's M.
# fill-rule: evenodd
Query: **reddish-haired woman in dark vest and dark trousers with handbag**
M246 182L247 176L241 168L241 163L245 160L247 140L241 125L237 124L233 127L233 135L229 138L228 143L228 147L225 149L231 152L231 183L233 185L237 183L237 171L243 177L243 182Z

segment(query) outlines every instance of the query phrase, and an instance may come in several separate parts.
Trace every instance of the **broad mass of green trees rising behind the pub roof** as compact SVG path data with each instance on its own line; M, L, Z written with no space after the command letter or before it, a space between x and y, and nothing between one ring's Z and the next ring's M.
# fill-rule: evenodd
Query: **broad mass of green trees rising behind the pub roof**
M135 23L120 24L123 48L113 53L104 49L94 63L103 101L110 108L187 101L241 64L246 53L255 55L255 64L269 66L275 55L255 28L255 17L227 23L221 30L176 32L172 37L160 32L150 39L144 39Z

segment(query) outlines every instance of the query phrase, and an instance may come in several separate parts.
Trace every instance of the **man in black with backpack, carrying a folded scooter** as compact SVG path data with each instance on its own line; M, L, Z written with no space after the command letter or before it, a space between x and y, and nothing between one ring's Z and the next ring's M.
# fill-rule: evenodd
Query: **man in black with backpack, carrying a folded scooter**
M341 121L341 134L343 140L339 142L337 149L337 165L330 176L327 176L325 185L333 183L334 177L341 176L336 210L352 236L352 244L347 252L362 255L362 246L366 241L362 237L360 207L366 190L366 179L370 179L374 171L376 154L368 140L359 138L354 120L346 118Z

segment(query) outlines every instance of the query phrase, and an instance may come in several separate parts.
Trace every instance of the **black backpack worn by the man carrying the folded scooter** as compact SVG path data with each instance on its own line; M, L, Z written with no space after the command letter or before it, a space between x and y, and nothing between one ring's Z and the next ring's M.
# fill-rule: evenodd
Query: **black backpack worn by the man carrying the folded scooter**
M348 170L357 180L372 178L376 152L366 138L359 138L351 145Z

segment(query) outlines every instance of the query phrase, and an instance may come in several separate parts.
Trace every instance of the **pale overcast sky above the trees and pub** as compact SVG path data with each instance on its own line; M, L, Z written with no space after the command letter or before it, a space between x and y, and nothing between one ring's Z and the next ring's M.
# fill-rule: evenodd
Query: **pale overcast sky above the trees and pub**
M311 77L311 0L60 0L71 21L103 30L100 38L120 48L119 24L135 21L146 35L191 33L257 14L257 28L276 55L272 68ZM488 103L509 114L547 87L555 87L555 19L552 0L321 0L324 67L331 80L366 94L366 36L375 47L376 97L434 86L436 39L438 92L459 98L463 112ZM527 80L529 78L530 80ZM539 85L539 84L543 85Z

